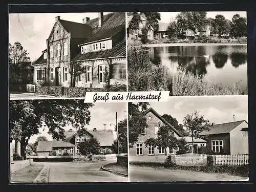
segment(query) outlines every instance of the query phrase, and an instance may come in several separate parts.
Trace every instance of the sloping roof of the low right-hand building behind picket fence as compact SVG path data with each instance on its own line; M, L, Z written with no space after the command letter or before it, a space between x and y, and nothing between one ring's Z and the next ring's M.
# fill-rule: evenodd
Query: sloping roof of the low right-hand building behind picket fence
M242 120L242 121L228 122L228 123L222 123L222 124L216 124L213 126L209 126L209 131L203 131L200 133L200 135L213 135L213 134L229 133L233 129L235 129L237 126L242 124L243 122L246 122L246 121Z

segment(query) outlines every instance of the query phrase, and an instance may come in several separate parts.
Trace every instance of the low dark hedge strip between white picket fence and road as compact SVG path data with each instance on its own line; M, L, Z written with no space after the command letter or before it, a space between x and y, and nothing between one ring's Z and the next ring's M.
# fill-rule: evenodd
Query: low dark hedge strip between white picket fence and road
M170 163L153 163L153 162L130 162L131 165L148 166L148 167L165 167L169 169L191 170L194 172L205 173L226 173L235 176L249 177L249 165L231 166L231 165L215 165L215 166L181 166Z

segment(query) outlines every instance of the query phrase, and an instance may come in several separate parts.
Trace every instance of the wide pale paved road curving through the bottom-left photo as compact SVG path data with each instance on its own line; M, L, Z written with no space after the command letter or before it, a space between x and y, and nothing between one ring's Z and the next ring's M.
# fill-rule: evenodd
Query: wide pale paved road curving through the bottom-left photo
M105 170L102 165L113 161L100 162L46 162L50 165L49 182L126 182L128 177Z

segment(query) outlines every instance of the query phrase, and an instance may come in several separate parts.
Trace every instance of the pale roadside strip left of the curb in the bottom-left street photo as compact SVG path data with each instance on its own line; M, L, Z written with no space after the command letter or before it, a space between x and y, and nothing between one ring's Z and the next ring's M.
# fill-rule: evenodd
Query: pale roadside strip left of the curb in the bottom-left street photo
M11 182L32 183L43 167L42 164L36 164L19 169L11 174Z

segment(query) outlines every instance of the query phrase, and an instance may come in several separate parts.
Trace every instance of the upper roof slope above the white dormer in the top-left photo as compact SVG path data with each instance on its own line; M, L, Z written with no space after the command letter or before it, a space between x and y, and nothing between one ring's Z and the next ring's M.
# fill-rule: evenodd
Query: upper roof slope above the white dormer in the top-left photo
M110 38L125 28L125 13L115 12L103 16L103 24L98 26L98 18L89 20L88 25L93 27L92 35L83 41L82 44L97 41L100 39ZM81 44L81 45L82 45Z

